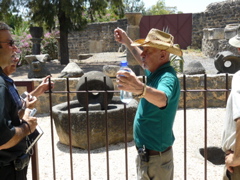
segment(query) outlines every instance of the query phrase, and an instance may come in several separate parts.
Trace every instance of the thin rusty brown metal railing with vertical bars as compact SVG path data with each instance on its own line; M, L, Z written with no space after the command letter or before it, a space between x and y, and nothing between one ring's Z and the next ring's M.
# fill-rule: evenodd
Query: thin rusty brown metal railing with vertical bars
M181 89L181 93L182 93L182 96L183 96L183 111L184 111L184 179L186 180L187 179L187 101L186 101L186 96L187 96L187 93L191 93L191 92L203 92L204 93L204 177L203 179L207 180L207 139L208 139L208 133L207 133L207 129L208 129L208 123L207 123L207 109L208 109L208 104L207 104L207 94L208 92L225 92L226 93L226 101L227 101L227 98L228 98L228 95L229 95L229 92L230 92L230 89L228 87L228 74L226 74L226 81L225 81L225 89L208 89L207 87L207 75L204 76L204 89L199 89L199 90L190 90L190 89L187 89L186 88L186 76L183 76L183 87ZM89 93L89 92L93 92L93 91L90 91L87 89L87 86L86 86L86 91L70 91L69 89L69 80L66 79L67 81L67 90L66 91L54 91L54 90L51 90L49 92L47 92L49 94L49 103L50 103L50 107L52 107L52 96L53 94L55 93L65 93L67 94L67 103L68 103L68 121L69 121L69 127L68 127L68 130L69 130L69 155L70 155L70 172L71 172L71 175L69 177L69 179L73 180L74 179L74 170L73 170L73 152L72 152L72 136L71 136L71 116L70 116L70 93ZM85 80L86 81L86 84L87 84L87 79ZM104 82L106 83L106 80L104 79ZM104 92L105 94L105 102L107 101L107 93L109 91L107 91L106 89L105 90L102 90L102 91L98 91L98 92ZM118 93L119 91L116 90L116 91L113 91L114 93ZM88 103L88 100L87 100L87 103ZM106 109L106 108L105 108ZM124 121L125 121L125 179L128 180L128 142L127 142L127 112L126 112L126 104L124 104ZM107 125L107 121L108 121L108 111L107 109L105 110L105 129L106 129L106 142L108 142L108 125ZM92 174L91 174L91 168L92 168L92 165L91 165L91 150L90 150L90 138L89 138L89 134L90 134L90 121L91 119L89 118L88 116L88 109L86 109L86 115L87 115L87 134L88 134L88 138L87 138L87 141L88 141L88 179L91 180L92 179ZM51 140L52 140L52 143L51 143L51 148L52 148L52 162L53 162L53 179L56 180L57 177L56 177L56 157L55 157L55 143L54 143L54 137L53 137L53 134L54 134L54 124L53 124L53 112L52 112L52 108L50 108L50 121L51 121ZM110 175L109 175L109 169L110 169L110 164L109 164L109 145L108 143L106 143L106 168L107 168L107 173L106 173L106 179L110 179ZM35 151L37 152L37 151ZM37 154L33 155L33 159L37 159ZM33 171L32 171L32 179L33 180L38 180L39 179L39 172L38 172L38 168L34 168L34 167L38 167L38 161L33 161L33 163L36 163L35 165L33 164ZM124 179L124 177L123 177Z

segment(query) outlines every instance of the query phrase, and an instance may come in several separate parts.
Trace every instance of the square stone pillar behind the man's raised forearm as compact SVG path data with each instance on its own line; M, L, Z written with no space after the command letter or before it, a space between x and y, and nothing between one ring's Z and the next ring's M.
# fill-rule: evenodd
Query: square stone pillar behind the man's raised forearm
M127 18L127 34L132 40L139 39L140 37L140 21L142 18L141 13L126 13L125 17ZM135 60L133 55L129 50L127 50L127 61L129 67L136 73L136 75L142 74L142 68L139 66L138 62Z

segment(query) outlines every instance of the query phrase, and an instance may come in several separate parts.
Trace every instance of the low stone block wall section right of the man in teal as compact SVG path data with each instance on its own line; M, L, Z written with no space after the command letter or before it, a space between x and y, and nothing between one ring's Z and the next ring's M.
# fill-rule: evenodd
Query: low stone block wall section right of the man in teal
M185 88L183 76L179 76L181 90L186 90L187 108L204 108L205 98L205 77L204 75L186 75ZM208 75L206 77L206 98L207 107L225 107L226 106L226 75ZM231 88L232 75L228 76L228 89ZM218 90L218 91L216 91ZM222 90L222 91L220 91ZM199 92L202 91L202 92ZM184 92L181 93L179 108L184 107Z

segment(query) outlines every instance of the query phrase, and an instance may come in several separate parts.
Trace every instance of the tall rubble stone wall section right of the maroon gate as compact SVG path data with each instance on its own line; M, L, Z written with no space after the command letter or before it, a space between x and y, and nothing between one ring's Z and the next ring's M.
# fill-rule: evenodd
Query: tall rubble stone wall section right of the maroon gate
M239 23L240 1L219 1L211 3L201 13L193 14L192 48L202 48L203 29L224 28Z

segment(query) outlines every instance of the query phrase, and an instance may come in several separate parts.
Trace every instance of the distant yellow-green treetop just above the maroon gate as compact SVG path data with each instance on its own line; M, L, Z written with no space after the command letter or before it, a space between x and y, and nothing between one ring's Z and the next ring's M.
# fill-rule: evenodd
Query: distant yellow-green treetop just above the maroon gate
M176 14L177 7L167 7L164 0L158 0L155 5L147 10L148 15Z

